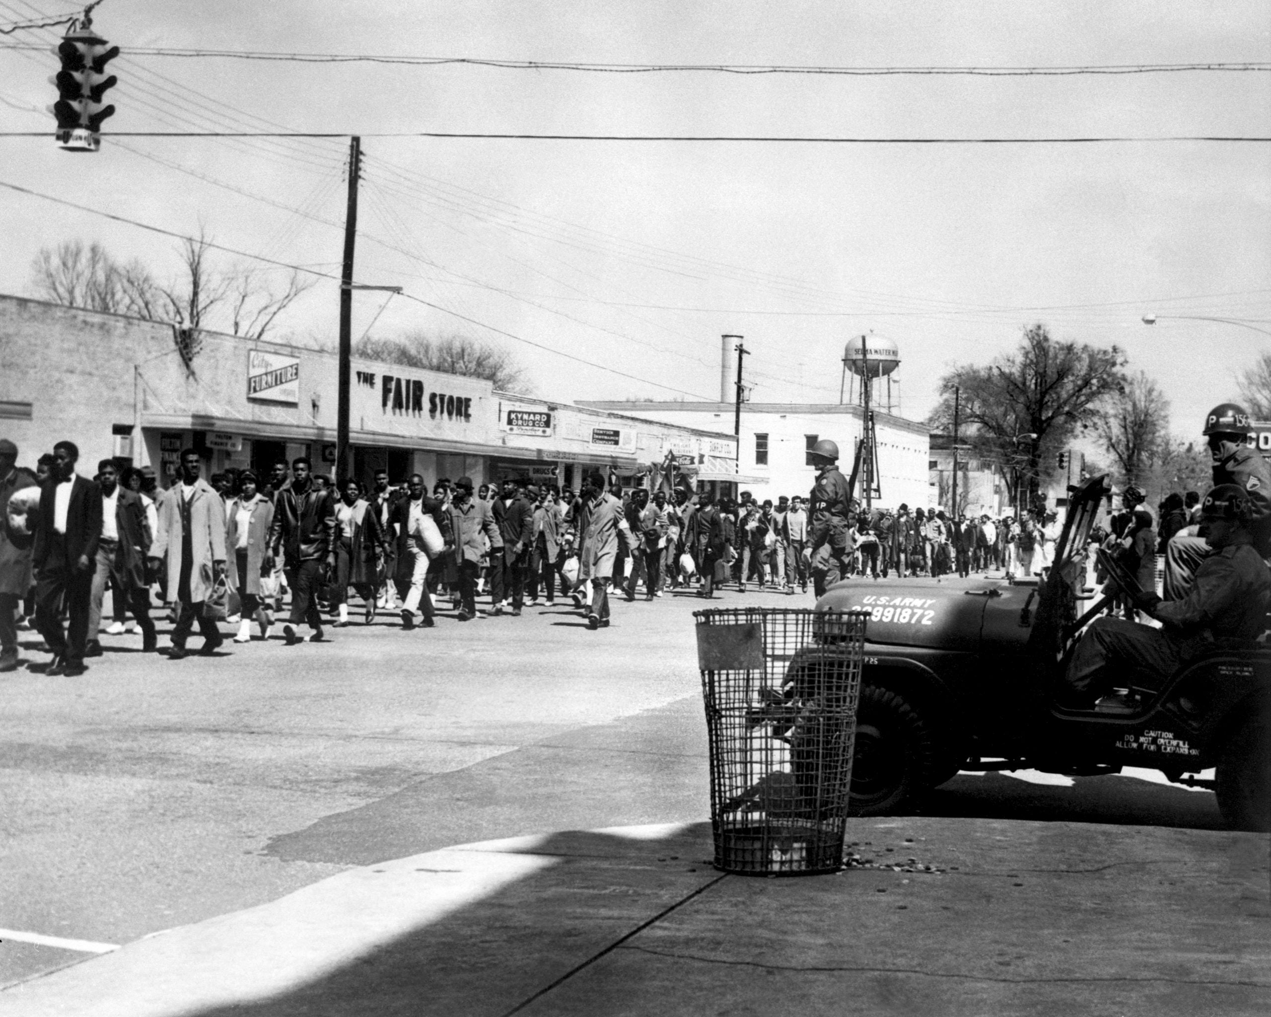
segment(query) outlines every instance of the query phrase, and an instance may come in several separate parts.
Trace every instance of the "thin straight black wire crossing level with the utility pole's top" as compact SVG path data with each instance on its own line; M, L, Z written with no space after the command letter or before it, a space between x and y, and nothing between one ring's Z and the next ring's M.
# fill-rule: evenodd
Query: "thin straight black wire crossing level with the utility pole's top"
M1091 137L834 137L830 135L547 135L496 131L114 131L108 137L436 137L487 141L707 141L808 145L1121 145L1160 141L1267 142L1238 135L1107 135ZM0 137L51 137L51 131L0 131Z

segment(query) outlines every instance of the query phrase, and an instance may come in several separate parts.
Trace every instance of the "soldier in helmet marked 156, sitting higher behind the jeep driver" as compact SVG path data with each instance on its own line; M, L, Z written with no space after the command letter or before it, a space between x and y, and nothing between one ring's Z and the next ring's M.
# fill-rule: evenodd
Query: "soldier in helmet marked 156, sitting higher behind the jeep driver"
M1235 403L1214 407L1205 417L1205 440L1214 460L1214 486L1237 484L1249 496L1253 547L1265 558L1271 554L1271 467L1248 446L1253 428L1249 414ZM1179 533L1166 545L1166 596L1178 600L1187 594L1192 576L1207 554L1204 526L1196 535Z

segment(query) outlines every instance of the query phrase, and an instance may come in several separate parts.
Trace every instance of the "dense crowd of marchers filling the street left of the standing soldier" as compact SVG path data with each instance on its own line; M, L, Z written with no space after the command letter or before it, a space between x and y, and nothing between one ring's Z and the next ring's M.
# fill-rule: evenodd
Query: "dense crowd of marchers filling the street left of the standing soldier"
M86 670L103 636L140 629L156 651L156 604L172 622L164 652L180 659L196 627L197 652L212 655L226 638L320 642L328 627L385 613L431 628L438 611L517 617L559 595L604 628L611 596L808 589L797 496L774 506L686 487L624 491L600 472L578 491L466 477L426 491L418 474L393 484L383 470L367 487L320 475L304 456L268 475L202 474L193 449L164 488L150 467L108 459L85 470L71 441L34 469L0 441L0 670L18 666L17 632L31 627L51 674Z

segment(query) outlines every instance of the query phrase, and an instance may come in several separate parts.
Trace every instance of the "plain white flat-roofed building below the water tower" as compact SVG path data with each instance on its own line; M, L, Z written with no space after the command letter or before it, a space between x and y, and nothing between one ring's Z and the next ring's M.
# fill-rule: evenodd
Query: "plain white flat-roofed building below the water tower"
M732 403L689 402L580 402L591 409L623 413L629 417L680 427L733 432ZM777 501L780 495L807 496L815 469L807 451L820 439L839 446L839 468L850 473L857 442L863 430L859 406L821 403L746 403L741 409L737 483L756 498ZM878 440L878 487L876 505L910 507L928 503L928 461L930 428L890 413L874 412ZM859 492L859 487L857 488Z

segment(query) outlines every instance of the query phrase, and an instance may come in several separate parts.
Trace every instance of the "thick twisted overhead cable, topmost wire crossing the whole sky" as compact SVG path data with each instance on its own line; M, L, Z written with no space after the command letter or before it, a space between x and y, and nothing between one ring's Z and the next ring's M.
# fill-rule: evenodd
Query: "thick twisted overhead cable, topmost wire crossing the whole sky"
M13 46L9 48L27 48ZM36 47L31 47L36 48ZM1074 75L1179 74L1193 71L1268 71L1267 61L1200 61L1190 64L1077 64L1066 66L819 66L798 64L605 64L566 60L500 60L465 56L402 56L391 53L300 53L268 50L206 50L177 46L132 46L135 56L262 60L287 64L395 64L417 67L446 65L527 71L580 71L590 74L733 74L733 75L827 75L876 76L967 76L967 78L1063 78Z

